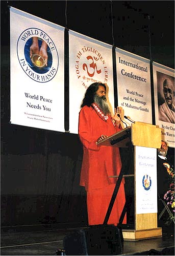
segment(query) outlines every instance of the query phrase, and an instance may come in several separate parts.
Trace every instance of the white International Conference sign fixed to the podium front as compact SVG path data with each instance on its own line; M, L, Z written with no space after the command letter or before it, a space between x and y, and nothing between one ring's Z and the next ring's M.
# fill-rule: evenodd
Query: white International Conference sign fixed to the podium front
M157 212L157 149L135 146L136 214Z

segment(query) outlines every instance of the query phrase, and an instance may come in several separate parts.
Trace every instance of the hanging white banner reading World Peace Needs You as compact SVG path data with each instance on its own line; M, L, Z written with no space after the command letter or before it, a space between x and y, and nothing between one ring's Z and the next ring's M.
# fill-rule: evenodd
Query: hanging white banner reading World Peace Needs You
M10 7L10 121L64 132L64 28Z

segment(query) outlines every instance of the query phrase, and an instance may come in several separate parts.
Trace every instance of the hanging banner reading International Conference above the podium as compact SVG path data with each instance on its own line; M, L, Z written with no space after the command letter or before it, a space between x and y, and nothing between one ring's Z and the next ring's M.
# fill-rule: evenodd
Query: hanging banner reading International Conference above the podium
M118 105L132 121L152 124L149 60L116 48ZM124 119L131 125L128 119Z

